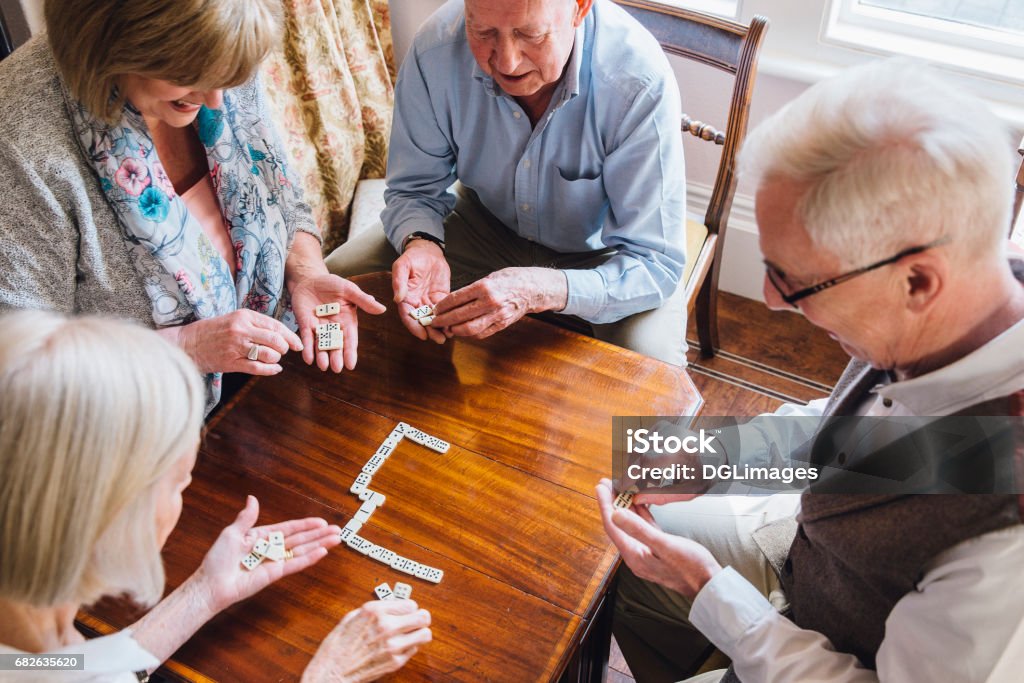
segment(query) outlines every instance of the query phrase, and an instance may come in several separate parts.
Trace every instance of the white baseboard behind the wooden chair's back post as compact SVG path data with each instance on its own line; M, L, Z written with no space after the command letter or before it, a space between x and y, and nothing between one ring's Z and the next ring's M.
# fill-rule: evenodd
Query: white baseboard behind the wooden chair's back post
M687 210L691 218L703 219L711 193L711 185L699 182L686 184ZM719 289L755 301L764 301L764 263L761 258L758 225L754 217L754 198L736 195L732 202L732 213L729 214L729 229L725 234Z

